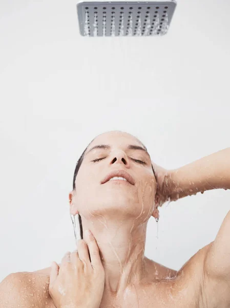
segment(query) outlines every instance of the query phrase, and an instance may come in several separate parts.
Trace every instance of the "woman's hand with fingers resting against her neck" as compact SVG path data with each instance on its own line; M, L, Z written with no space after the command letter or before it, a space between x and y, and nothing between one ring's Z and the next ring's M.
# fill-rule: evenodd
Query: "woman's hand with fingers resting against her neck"
M56 308L99 308L104 290L99 248L92 233L86 241L78 240L77 246L78 252L68 252L60 266L53 262L50 296Z

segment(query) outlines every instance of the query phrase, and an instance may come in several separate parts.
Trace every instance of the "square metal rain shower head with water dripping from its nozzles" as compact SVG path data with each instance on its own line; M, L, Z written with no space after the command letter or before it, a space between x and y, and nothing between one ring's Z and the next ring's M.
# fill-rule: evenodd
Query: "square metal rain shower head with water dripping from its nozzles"
M83 36L164 35L176 8L176 1L80 2L77 4L80 34Z

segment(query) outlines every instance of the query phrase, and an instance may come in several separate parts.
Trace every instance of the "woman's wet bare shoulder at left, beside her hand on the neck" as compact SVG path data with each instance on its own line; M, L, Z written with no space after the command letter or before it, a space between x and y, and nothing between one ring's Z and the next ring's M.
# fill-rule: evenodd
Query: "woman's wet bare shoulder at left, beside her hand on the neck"
M49 275L19 272L8 275L0 284L0 308L17 303L25 307L54 308L49 295Z

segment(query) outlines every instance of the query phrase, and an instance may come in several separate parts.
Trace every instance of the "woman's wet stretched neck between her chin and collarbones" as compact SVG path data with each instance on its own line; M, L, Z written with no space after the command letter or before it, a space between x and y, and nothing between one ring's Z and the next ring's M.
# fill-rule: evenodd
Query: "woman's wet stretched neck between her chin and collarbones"
M144 245L147 223L135 226L133 221L82 218L84 232L90 229L100 251L105 272L104 293L118 295L129 285L138 284L146 276Z

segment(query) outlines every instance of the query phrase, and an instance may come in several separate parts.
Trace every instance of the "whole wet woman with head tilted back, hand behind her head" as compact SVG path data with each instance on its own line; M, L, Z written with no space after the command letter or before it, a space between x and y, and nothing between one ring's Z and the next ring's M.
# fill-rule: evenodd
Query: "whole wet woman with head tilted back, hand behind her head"
M229 214L216 240L180 271L144 257L147 223L151 216L159 218L157 207L169 198L229 189L229 157L230 149L225 149L178 170L154 166L154 175L149 153L138 139L120 131L99 135L79 159L69 194L70 213L79 214L82 223L78 252L67 253L47 272L9 275L0 287L0 299L2 295L10 302L6 291L14 287L17 304L29 306L31 298L20 293L26 287L36 293L33 305L40 308L192 308L230 303ZM29 281L33 279L34 285Z

